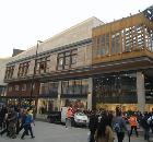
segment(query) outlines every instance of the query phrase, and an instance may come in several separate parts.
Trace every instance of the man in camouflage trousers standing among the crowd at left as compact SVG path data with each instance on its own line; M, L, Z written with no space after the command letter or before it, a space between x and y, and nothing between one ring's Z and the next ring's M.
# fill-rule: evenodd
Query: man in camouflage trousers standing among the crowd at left
M16 114L16 107L13 106L12 108L12 116L11 119L8 119L10 121L8 130L10 131L10 138L15 139L16 138L16 123L17 123L17 114Z

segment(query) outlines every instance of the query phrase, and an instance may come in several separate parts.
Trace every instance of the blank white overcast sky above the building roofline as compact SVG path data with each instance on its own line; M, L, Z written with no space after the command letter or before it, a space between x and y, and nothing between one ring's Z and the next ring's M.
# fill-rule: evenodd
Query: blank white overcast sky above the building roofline
M153 0L0 0L0 58L92 16L108 23L152 4Z

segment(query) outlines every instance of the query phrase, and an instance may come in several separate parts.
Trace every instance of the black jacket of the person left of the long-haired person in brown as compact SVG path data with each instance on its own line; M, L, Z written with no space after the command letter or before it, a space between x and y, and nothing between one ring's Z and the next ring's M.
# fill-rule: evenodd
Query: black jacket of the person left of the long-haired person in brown
M95 131L97 127L98 127L98 118L92 115L89 123L90 131Z

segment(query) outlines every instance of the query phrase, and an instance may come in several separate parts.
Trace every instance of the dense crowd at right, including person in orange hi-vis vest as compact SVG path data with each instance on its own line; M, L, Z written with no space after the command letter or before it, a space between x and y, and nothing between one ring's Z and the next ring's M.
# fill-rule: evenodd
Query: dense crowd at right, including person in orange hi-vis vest
M118 142L122 142L125 132L128 131L129 137L134 129L136 135L140 127L144 131L144 140L150 141L150 129L153 131L153 113L115 113L115 111L86 111L90 116L89 129L91 131L90 142L114 142L114 132L117 134ZM99 120L101 118L101 120ZM130 123L128 130L127 125Z

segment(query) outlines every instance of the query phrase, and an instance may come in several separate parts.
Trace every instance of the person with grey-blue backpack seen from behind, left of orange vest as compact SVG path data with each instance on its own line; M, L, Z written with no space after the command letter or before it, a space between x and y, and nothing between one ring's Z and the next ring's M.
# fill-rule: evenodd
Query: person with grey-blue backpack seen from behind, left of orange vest
M115 119L115 132L117 133L118 142L122 142L125 138L125 131L128 131L126 120L121 116L121 111L117 113Z

